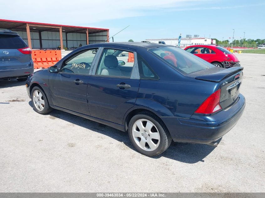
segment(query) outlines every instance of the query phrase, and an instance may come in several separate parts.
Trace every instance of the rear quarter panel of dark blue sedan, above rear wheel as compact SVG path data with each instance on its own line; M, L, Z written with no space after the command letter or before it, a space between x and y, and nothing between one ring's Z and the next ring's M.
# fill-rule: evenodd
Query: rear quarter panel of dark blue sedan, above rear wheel
M217 83L193 80L190 77L173 82L164 80L140 80L140 88L135 105L143 105L155 110L160 117L175 116L190 118L199 105L218 89ZM141 101L141 103L140 103ZM162 105L162 107L159 107Z

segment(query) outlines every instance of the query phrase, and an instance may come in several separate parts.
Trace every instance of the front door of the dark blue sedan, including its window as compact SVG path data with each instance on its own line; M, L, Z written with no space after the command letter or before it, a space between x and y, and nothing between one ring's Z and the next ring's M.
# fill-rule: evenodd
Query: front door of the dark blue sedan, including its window
M97 49L86 49L73 54L62 63L59 73L50 74L50 95L55 106L90 115L87 83Z

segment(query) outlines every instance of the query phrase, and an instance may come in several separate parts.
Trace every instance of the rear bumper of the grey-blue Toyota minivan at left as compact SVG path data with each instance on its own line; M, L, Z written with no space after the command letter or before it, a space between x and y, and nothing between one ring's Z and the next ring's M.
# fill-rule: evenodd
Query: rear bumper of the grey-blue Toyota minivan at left
M0 70L0 79L16 79L20 77L29 76L34 72L33 64L28 68L21 69L3 69Z

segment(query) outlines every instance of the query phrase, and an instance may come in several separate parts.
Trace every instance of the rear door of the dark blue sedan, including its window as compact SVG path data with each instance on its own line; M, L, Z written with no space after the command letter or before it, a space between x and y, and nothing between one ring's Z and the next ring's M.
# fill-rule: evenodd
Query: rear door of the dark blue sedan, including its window
M125 113L135 104L140 84L134 56L135 52L128 48L102 48L87 86L91 116L123 124Z

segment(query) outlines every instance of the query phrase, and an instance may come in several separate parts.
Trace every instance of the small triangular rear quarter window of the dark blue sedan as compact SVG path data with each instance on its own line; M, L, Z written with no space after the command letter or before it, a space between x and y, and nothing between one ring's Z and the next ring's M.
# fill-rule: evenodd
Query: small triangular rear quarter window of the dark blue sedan
M140 79L158 80L159 77L150 67L150 65L137 53L137 63L140 74Z

